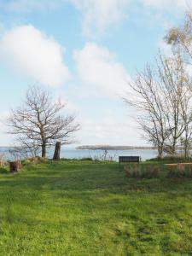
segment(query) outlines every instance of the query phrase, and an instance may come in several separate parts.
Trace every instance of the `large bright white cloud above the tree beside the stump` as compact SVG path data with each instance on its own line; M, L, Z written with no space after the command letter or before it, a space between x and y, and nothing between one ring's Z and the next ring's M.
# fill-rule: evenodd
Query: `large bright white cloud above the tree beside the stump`
M57 86L70 77L63 62L64 49L32 25L17 26L6 32L0 49L4 59L38 83Z

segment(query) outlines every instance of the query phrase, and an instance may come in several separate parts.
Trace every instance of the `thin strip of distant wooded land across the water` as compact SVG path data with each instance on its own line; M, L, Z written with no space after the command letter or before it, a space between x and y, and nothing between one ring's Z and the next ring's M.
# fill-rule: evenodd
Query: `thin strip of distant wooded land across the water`
M96 146L79 146L76 149L90 149L90 150L133 150L133 149L157 149L156 147L146 147L146 146L109 146L109 145L96 145Z

